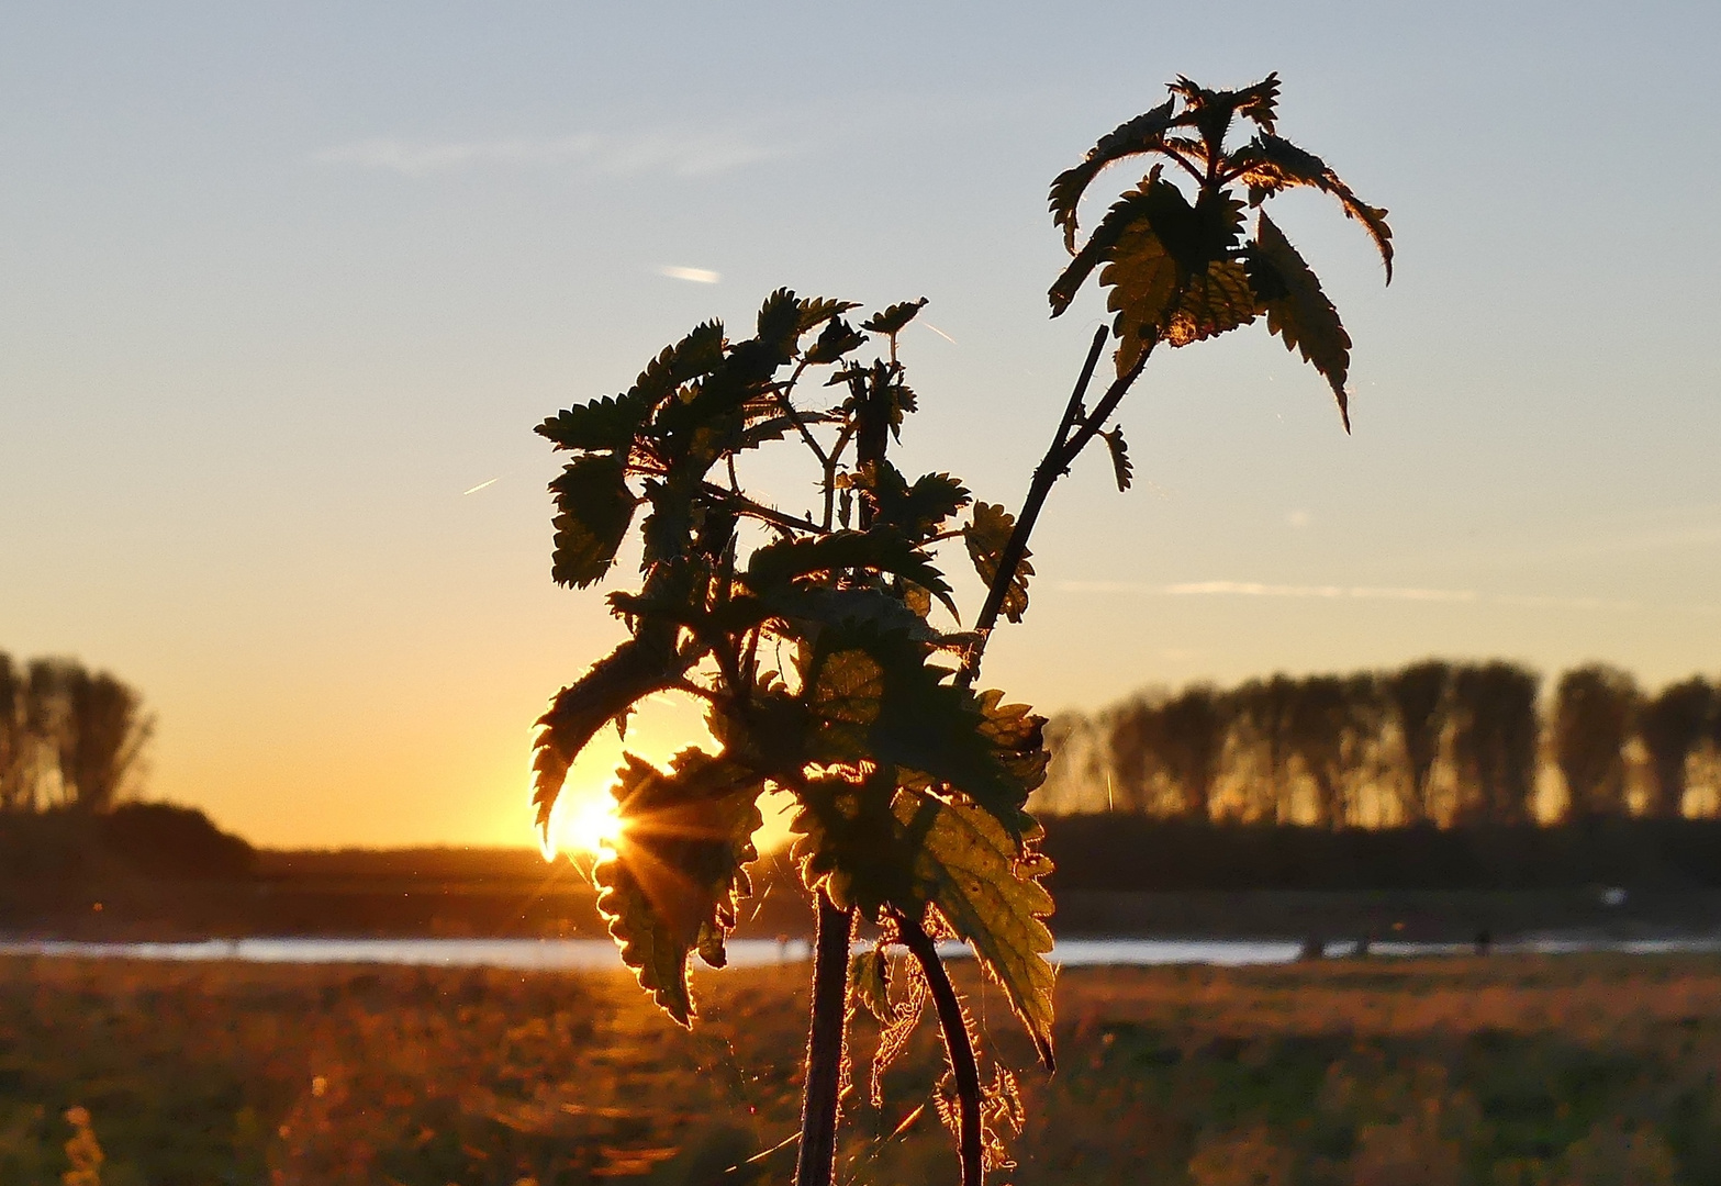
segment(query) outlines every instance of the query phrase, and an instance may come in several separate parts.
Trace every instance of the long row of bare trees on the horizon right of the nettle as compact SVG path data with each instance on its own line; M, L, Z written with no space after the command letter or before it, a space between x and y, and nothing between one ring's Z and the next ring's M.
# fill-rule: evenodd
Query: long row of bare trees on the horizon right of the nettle
M1721 814L1721 682L1516 663L1193 683L1048 726L1036 807L1323 828Z

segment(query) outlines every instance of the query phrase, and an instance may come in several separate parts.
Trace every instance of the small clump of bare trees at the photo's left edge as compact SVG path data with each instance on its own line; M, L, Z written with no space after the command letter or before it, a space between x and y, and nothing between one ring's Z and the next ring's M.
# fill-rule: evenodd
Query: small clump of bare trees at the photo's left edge
M0 812L110 811L138 792L153 732L143 697L114 675L0 651Z

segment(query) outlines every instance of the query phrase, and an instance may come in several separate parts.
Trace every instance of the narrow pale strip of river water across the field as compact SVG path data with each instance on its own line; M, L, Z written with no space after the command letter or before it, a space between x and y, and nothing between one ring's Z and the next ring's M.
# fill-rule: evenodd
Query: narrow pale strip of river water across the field
M941 943L947 957L965 955L960 943ZM1380 957L1465 955L1470 943L1377 942ZM1499 954L1568 955L1618 952L1657 955L1669 952L1721 952L1721 935L1685 938L1609 940L1595 936L1540 936L1496 943ZM730 940L730 966L793 964L811 957L805 940ZM1289 964L1303 954L1294 940L1217 938L1072 938L1052 948L1062 967L1155 967L1213 964L1243 967ZM1325 955L1354 955L1356 945L1327 943ZM60 940L0 942L0 955L65 955L81 959L239 961L248 964L406 964L429 967L515 967L592 971L620 967L609 940L558 938L239 938L186 943L74 943Z

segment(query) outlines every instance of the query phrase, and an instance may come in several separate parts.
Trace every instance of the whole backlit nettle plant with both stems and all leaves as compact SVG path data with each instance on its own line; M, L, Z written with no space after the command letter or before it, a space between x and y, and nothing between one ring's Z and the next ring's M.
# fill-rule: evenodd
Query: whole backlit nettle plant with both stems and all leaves
M1291 188L1332 195L1372 236L1389 279L1391 232L1384 210L1275 134L1277 93L1275 76L1239 91L1179 79L1162 107L1053 181L1053 222L1074 258L1052 286L1052 313L1098 272L1115 318L1095 336L1014 516L948 473L910 480L890 461L917 406L898 336L924 300L855 324L848 301L780 289L750 337L706 322L625 394L539 425L575 454L551 484L554 578L594 585L635 522L642 540L640 585L609 594L628 639L539 721L539 826L549 828L570 764L601 728L625 730L661 692L704 702L721 749L685 749L668 768L628 754L611 788L614 856L592 873L623 962L688 1024L688 962L725 964L725 936L750 892L759 800L769 790L795 797L793 861L817 909L800 1186L831 1181L854 1007L879 1017L888 1059L931 1000L950 1060L935 1103L957 1134L962 1183L1007 1165L1005 1138L1021 1124L1015 1081L996 1067L983 1088L940 938L972 950L1053 1066L1052 897L1041 885L1052 864L1026 811L1046 771L1045 720L974 690L998 616L1021 621L1027 609L1027 539L1052 485L1100 437L1126 489L1131 461L1113 413L1151 353L1261 317L1329 380L1349 429L1349 337L1260 207ZM1227 148L1239 126L1253 134ZM1143 155L1151 169L1077 246L1088 184ZM1108 332L1117 375L1089 403ZM738 480L737 460L778 444L807 453L817 510L781 511ZM988 590L965 630L940 570L950 551L940 546L955 540ZM857 916L878 940L854 952Z

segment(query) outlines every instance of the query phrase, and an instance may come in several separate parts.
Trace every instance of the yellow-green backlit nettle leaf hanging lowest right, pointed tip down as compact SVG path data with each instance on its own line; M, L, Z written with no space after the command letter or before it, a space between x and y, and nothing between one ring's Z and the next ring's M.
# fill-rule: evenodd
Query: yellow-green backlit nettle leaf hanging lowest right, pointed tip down
M1034 850L1038 835L1017 842L974 804L914 792L902 792L893 811L904 828L924 835L914 864L922 893L1003 986L1039 1057L1052 1067L1057 973L1046 961L1052 895L1039 885L1052 864Z

